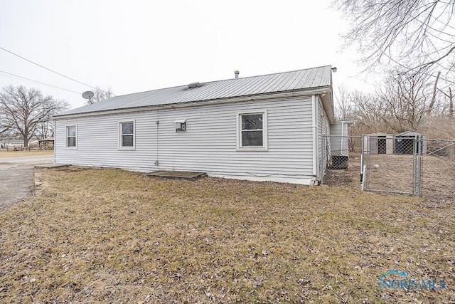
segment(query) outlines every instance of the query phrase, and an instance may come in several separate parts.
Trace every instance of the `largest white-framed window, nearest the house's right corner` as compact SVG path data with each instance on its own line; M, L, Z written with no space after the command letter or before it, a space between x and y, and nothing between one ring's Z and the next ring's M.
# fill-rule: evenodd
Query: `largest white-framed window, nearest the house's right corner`
M238 150L267 150L267 112L238 115Z

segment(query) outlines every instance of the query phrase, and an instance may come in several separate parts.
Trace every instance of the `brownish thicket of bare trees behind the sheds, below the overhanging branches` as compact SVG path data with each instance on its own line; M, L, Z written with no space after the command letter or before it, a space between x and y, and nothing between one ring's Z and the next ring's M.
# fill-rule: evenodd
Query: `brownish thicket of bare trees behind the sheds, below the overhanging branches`
M341 85L336 93L336 117L355 120L350 135L416 130L427 137L454 140L454 90L438 88L436 79L426 73L390 73L375 93Z

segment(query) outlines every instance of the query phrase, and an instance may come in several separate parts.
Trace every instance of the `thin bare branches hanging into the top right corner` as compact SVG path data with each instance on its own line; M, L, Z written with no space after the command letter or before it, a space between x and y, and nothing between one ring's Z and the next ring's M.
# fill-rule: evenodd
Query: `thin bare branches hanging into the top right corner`
M454 0L334 0L332 6L350 20L346 42L358 46L367 68L454 69Z

